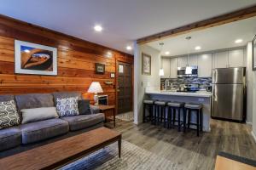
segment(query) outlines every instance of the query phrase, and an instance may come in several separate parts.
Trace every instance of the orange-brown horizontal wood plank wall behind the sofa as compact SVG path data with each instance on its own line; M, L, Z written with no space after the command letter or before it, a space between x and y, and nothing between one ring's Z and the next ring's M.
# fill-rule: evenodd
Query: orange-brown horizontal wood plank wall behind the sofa
M15 39L57 48L58 75L15 74ZM103 94L108 94L109 103L115 104L116 79L110 78L110 73L116 71L118 60L133 65L131 54L0 15L0 94L79 91L92 101L93 94L87 90L90 82L97 81ZM104 75L95 73L95 63L106 65ZM113 85L105 84L106 81L112 81Z

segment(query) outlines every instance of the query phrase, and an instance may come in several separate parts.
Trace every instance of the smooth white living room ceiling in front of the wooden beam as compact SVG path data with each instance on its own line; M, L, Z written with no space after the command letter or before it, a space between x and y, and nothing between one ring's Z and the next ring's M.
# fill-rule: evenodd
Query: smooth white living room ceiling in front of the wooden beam
M140 37L253 4L256 0L1 0L0 13L127 52L125 46ZM102 33L93 30L96 24Z

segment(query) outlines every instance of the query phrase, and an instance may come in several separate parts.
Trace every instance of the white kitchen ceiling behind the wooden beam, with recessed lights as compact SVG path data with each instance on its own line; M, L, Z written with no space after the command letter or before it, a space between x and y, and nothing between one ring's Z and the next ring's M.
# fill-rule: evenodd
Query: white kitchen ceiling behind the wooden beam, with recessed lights
M175 56L181 54L198 53L221 48L235 48L245 46L252 41L256 34L256 17L215 26L201 31L192 31L177 37L166 38L161 41L150 42L148 45L161 51L163 56ZM186 40L186 37L191 39ZM235 43L236 39L242 39L241 43ZM160 42L164 42L161 47ZM201 46L201 50L195 50ZM170 54L166 55L166 51Z

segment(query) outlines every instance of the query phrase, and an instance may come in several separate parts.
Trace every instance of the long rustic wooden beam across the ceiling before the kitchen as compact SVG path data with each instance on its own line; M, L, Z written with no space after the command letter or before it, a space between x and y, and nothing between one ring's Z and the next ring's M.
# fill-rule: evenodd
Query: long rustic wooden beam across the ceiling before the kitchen
M181 34L188 33L190 31L198 31L213 26L220 26L237 20L244 20L256 16L256 5L249 8L242 8L229 14L222 14L216 17L212 17L207 20L201 20L191 23L186 26L180 26L168 31L162 31L160 33L137 39L138 44L144 44L148 42L158 41L167 37L174 37Z

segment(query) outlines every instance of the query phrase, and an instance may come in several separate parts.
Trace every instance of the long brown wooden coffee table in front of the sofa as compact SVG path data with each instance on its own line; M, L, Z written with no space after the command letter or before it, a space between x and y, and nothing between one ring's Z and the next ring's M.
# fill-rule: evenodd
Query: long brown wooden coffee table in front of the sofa
M116 141L118 141L120 157L121 139L120 133L106 127L100 127L87 133L5 157L0 159L0 167L5 170L62 167Z

